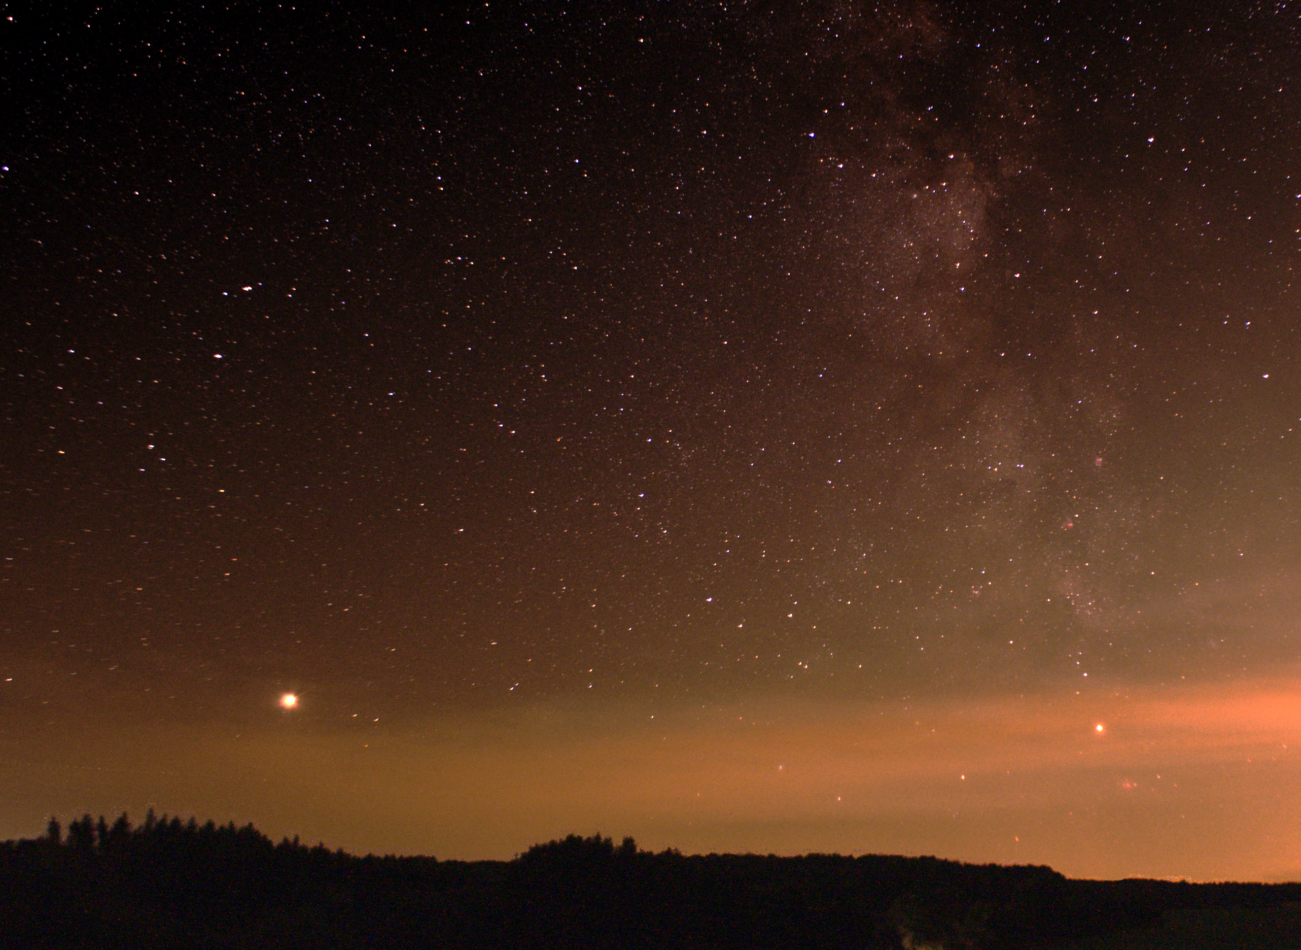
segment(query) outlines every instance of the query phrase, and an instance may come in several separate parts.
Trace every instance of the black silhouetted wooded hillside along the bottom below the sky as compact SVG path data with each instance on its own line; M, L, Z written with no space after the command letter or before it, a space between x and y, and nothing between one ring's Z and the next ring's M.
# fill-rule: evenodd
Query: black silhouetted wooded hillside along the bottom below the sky
M251 825L88 816L0 845L5 947L1301 947L1301 885L680 855L570 835L513 862L355 858Z

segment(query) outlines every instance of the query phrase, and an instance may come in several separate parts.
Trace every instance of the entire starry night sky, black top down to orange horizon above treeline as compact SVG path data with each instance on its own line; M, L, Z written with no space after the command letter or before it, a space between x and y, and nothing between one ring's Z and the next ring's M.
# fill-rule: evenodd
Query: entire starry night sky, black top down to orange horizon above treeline
M0 837L1301 873L1293 3L359 7L0 9Z

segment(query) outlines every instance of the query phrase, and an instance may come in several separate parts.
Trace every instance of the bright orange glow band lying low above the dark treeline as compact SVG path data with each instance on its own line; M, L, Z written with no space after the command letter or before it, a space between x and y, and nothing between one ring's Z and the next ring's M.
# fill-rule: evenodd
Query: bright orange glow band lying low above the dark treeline
M87 729L74 750L33 760L27 747L0 780L13 809L0 820L38 802L62 815L152 804L438 858L510 858L601 830L691 852L1279 880L1301 868L1287 795L1301 783L1298 692L1301 681L1278 679L987 701L762 700L654 718L533 705L366 737L177 724L127 743ZM138 798L141 776L151 800Z

